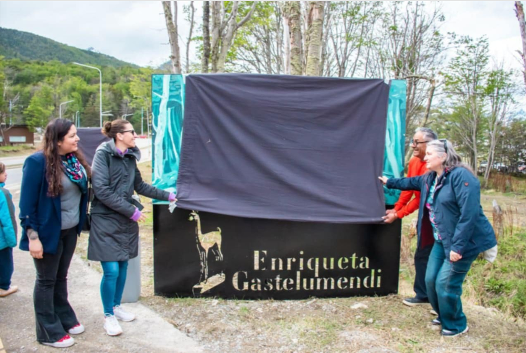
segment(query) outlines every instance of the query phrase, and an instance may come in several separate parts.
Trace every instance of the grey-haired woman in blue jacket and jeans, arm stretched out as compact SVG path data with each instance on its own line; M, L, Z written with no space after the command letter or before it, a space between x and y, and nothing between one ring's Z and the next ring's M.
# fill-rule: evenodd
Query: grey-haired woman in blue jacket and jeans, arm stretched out
M424 175L379 179L390 189L419 190L418 232L430 227L435 239L426 270L429 302L444 337L468 331L462 311L462 282L479 253L497 245L480 205L480 182L447 140L428 142Z

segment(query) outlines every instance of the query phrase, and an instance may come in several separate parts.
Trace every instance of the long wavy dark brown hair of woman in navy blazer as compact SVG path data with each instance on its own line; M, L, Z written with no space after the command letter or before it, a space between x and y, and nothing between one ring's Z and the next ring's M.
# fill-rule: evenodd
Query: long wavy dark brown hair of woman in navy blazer
M46 179L47 179L47 195L49 197L56 197L62 191L62 174L64 169L62 166L62 159L58 153L58 141L64 141L64 136L68 133L73 123L67 119L53 119L46 126L44 132L44 144L42 150L46 158ZM92 169L84 159L84 155L80 150L73 152L80 164L84 166L87 177L90 178Z

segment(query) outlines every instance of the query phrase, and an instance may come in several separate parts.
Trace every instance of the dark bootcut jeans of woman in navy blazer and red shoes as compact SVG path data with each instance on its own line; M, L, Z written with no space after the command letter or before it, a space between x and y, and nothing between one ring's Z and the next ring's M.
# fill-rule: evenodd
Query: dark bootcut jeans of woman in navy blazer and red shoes
M33 301L38 342L56 342L78 323L67 300L67 271L77 245L76 228L60 232L55 254L44 253L44 258L33 259L37 273Z

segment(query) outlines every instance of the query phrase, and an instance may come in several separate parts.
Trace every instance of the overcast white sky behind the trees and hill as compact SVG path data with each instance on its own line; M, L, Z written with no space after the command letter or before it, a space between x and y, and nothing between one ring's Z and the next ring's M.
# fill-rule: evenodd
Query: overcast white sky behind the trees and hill
M186 38L182 5L189 2L179 4L180 35ZM194 4L201 9L201 2ZM450 1L442 6L442 32L486 35L493 56L508 67L520 67L514 53L522 50L521 37L512 1ZM0 26L82 49L93 47L140 66L156 67L170 55L160 1L1 1Z

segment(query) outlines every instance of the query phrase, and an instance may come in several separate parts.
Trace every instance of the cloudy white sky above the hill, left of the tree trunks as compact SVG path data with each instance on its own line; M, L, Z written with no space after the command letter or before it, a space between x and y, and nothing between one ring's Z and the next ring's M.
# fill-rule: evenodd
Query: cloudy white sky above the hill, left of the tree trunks
M179 2L179 31L187 36L181 3L186 2ZM170 55L160 1L3 1L0 26L93 47L141 66L159 65Z

